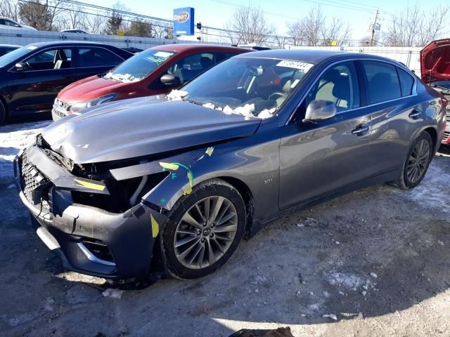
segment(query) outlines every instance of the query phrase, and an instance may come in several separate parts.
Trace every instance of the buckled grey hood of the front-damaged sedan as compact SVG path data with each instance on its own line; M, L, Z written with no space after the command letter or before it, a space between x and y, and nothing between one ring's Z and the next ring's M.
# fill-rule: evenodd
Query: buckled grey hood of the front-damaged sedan
M250 136L260 122L158 95L93 107L77 117L60 119L42 136L52 150L84 164Z

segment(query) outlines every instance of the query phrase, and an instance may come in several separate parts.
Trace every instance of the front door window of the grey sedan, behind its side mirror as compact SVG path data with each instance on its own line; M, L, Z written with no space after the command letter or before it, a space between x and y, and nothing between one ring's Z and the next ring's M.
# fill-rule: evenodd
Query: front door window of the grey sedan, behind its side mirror
M359 107L359 84L354 62L342 62L326 70L307 95L305 109L312 100L334 102L338 112Z

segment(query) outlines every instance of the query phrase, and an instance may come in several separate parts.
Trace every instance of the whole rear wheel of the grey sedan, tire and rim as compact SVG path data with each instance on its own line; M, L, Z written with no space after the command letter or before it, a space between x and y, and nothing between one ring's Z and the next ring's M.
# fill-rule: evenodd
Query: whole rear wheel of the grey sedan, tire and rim
M423 131L409 147L399 180L395 185L411 189L420 184L433 155L433 142L430 133Z

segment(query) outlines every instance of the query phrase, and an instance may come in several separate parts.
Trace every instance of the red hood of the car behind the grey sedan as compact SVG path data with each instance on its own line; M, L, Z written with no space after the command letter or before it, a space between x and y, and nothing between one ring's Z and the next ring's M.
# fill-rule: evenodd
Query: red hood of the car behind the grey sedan
M76 103L114 93L123 86L130 86L130 84L113 81L112 79L103 79L103 77L95 75L86 79L80 79L66 86L58 93L58 98L65 102Z

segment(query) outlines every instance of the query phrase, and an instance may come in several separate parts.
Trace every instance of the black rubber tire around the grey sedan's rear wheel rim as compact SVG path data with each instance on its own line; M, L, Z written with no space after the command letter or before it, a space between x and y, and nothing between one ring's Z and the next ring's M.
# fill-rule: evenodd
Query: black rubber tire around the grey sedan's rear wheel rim
M411 164L411 155L414 152L414 149L416 148L416 145L418 145L418 143L425 141L426 143L428 143L428 148L429 148L429 153L428 153L428 159L424 159L424 168L423 171L420 172L420 176L418 177L417 180L411 180L411 178L409 178L408 175L408 165ZM420 184L420 182L423 180L423 177L425 177L425 174L428 171L428 166L430 166L430 162L432 159L434 153L434 149L433 149L433 142L430 136L430 133L423 131L422 133L420 133L420 136L418 136L418 138L416 138L413 143L411 144L411 146L409 147L408 153L406 154L405 157L405 161L403 166L401 167L401 176L398 180L394 181L394 185L397 185L397 187L401 188L402 190L411 190L412 188L416 187L417 185Z

